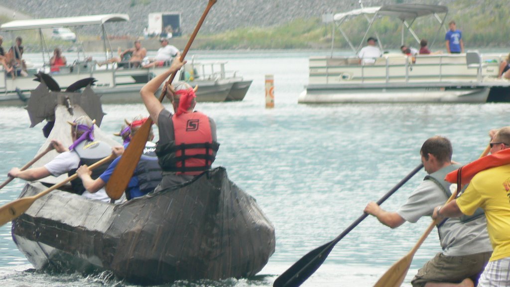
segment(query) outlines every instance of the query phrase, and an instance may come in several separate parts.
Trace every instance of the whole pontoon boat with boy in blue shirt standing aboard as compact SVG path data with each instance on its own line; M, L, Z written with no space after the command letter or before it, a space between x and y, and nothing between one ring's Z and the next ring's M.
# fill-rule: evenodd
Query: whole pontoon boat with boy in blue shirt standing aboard
M448 8L440 5L398 4L339 13L334 20L354 55L358 55L379 16L400 19L403 44L404 28L420 42L411 28L416 18L435 17L439 22L439 34L441 28L444 29L447 12ZM440 14L444 16L440 17ZM342 30L342 23L360 15L366 16L369 27L356 48ZM384 51L380 39L378 42ZM364 65L356 56L311 57L309 84L298 102L510 102L510 81L497 78L499 63L504 56L468 50L456 55L417 55L413 61L412 57L399 53L384 54L375 59L375 63Z

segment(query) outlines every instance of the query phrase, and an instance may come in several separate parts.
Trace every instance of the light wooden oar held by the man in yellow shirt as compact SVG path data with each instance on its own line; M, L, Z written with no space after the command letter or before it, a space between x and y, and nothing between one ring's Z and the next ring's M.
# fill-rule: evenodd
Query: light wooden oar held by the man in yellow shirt
M480 155L480 158L486 156L489 154L489 151L491 150L491 146L487 146L487 148L483 151L483 153ZM457 192L454 192L451 194L448 201L446 201L445 204L455 199L457 196ZM418 243L407 253L404 257L402 257L400 260L398 260L388 271L386 271L385 274L383 274L379 280L375 283L374 287L399 287L402 282L404 281L405 275L407 274L407 271L409 271L409 267L411 266L411 262L413 261L413 257L420 248L420 246L423 244L425 239L428 237L428 234L436 227L436 225L439 223L439 220L433 220L432 223L427 227L427 230L425 230L425 233L421 235L420 240L418 240Z

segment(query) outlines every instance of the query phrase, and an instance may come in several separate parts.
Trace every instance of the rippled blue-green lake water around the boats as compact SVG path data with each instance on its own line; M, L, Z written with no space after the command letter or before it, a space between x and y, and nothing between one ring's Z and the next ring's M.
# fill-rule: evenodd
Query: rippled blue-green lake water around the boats
M325 54L325 53L324 53ZM333 240L361 216L369 201L386 194L419 163L423 141L445 135L454 160L467 163L483 151L492 128L508 125L508 104L298 105L313 53L211 53L200 59L227 60L228 69L253 79L243 102L199 103L212 116L221 147L215 165L255 197L276 229L276 251L254 278L183 281L175 286L270 286L307 252ZM264 75L274 74L275 108L264 108ZM141 104L105 105L101 128L117 131ZM44 138L29 128L27 112L0 107L0 174L33 158ZM421 171L386 203L395 210L425 176ZM3 180L5 176L0 177ZM0 204L17 198L24 182L0 190ZM304 286L369 286L416 244L430 221L391 230L369 217L329 254ZM434 232L414 256L410 280L440 251ZM10 225L0 228L0 284L23 286L124 286L108 273L45 274L30 270L14 245ZM27 270L28 269L28 270Z

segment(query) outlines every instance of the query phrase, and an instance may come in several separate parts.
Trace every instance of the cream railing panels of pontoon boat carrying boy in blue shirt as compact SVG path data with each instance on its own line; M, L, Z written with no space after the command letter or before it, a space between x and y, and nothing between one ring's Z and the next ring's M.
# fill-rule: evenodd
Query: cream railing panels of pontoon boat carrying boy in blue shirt
M362 64L355 57L310 58L310 84L481 82L496 78L499 54L480 55L479 66L469 65L465 54L417 55L388 54L373 64Z

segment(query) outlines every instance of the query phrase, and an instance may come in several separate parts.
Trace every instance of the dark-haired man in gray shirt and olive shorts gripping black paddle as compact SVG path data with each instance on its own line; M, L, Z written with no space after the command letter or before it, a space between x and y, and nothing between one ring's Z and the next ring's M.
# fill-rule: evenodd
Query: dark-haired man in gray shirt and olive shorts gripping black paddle
M395 212L380 208L375 202L365 212L382 224L396 228L404 222L416 223L423 216L432 216L438 205L451 196L446 174L460 168L452 164L450 141L441 136L427 139L420 150L427 176L407 202ZM443 252L425 263L411 283L417 286L474 286L492 254L487 222L481 212L471 217L448 219L438 224Z

